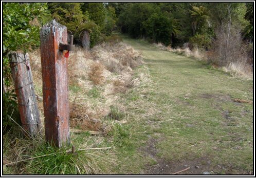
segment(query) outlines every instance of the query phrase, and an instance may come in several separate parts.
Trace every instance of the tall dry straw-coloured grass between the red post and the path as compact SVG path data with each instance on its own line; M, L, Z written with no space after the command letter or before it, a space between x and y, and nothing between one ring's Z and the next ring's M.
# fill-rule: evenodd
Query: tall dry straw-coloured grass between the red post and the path
M109 114L109 106L115 103L118 93L138 86L147 76L133 77L133 69L142 64L139 52L120 39L109 39L90 51L76 47L68 57L68 81L70 100L70 127L107 133L112 126L102 118ZM42 74L40 49L29 53L34 78L35 93L43 121ZM97 86L97 87L96 87ZM92 92L96 94L92 96ZM99 96L97 96L97 92Z

